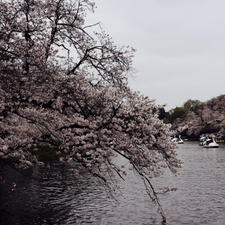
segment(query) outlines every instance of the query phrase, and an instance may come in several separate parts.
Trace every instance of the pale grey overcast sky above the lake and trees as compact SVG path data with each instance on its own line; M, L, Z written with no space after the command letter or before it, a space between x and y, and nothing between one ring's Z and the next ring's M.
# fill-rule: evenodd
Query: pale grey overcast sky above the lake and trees
M225 94L225 0L96 0L100 21L137 52L130 86L167 104Z

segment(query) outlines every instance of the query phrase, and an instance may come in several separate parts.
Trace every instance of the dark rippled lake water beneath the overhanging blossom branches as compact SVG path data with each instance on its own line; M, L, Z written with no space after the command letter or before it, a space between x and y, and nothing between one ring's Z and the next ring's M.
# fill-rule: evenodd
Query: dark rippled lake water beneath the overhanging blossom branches
M178 176L166 173L153 184L177 186L161 197L170 225L225 224L225 146L204 149L197 142L179 145L184 162ZM122 162L121 162L122 163ZM0 224L161 224L141 180L129 173L119 180L116 200L93 178L74 179L73 169L60 164L34 170L32 180L4 169L0 184ZM16 187L13 187L13 182Z

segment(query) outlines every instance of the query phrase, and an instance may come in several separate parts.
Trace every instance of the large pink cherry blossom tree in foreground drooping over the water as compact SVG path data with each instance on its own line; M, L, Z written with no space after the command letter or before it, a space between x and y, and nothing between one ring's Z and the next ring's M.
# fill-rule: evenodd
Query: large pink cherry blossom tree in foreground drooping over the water
M119 155L164 218L151 178L180 167L170 127L128 86L134 49L85 23L93 10L90 0L0 1L0 160L42 164L31 149L50 145L108 185L110 172L124 176Z

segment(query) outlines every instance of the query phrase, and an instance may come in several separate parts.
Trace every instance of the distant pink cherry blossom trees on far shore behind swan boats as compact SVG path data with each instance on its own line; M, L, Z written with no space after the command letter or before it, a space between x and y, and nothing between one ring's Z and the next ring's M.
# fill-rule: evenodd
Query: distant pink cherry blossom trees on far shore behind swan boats
M201 135L215 135L225 138L225 95L212 98L206 102L189 100L185 104L191 107L185 115L172 121L172 128L180 134L193 139ZM197 104L196 104L197 103ZM185 105L184 104L184 105Z

